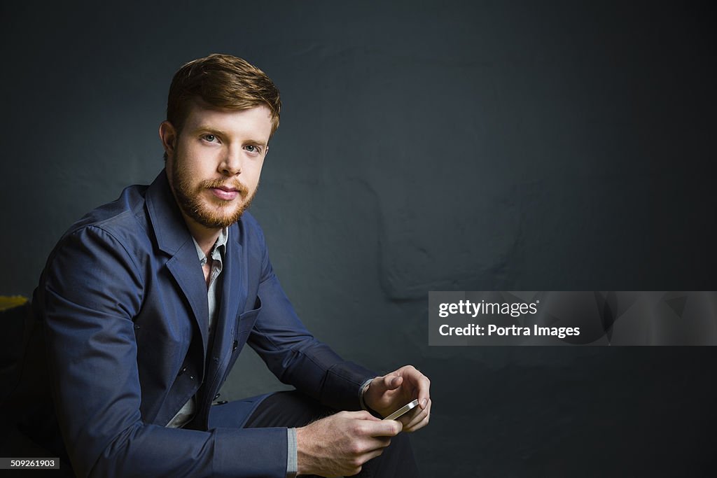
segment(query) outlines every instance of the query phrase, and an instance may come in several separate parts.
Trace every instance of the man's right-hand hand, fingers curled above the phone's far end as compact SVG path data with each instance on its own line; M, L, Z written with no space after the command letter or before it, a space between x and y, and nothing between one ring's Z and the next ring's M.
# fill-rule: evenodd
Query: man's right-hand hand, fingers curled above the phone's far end
M428 424L431 414L431 381L413 365L376 377L364 392L364 403L381 416L389 416L406 403L418 398L419 408L398 419L403 431L416 431Z

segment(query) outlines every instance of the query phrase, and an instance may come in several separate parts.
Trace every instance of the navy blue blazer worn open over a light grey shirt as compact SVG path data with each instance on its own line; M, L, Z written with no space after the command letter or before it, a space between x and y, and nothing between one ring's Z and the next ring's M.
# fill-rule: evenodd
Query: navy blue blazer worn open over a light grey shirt
M375 374L305 329L249 213L229 229L222 277L209 344L206 282L164 172L62 237L33 307L75 473L285 477L285 429L207 430L212 398L245 343L282 382L329 406L359 409L359 386ZM191 429L166 428L191 396L199 398Z

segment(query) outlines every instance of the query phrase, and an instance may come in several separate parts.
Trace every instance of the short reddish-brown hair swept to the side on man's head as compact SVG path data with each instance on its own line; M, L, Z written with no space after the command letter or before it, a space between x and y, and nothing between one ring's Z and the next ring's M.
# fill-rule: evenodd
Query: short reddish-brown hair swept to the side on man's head
M271 113L271 134L279 128L279 90L265 72L229 54L210 54L179 69L167 98L167 120L179 132L189 103L199 99L210 107L248 110L264 105Z

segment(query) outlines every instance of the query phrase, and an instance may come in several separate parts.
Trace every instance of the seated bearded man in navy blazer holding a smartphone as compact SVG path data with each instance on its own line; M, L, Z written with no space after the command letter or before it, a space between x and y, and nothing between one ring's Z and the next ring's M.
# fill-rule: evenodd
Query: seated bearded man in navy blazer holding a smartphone
M417 475L399 432L428 423L428 379L412 366L376 377L315 340L245 211L280 105L242 59L185 64L159 129L165 170L91 211L50 255L33 311L54 412L36 398L20 428L66 451L77 475ZM245 343L299 392L218 404ZM369 413L414 398L400 422Z

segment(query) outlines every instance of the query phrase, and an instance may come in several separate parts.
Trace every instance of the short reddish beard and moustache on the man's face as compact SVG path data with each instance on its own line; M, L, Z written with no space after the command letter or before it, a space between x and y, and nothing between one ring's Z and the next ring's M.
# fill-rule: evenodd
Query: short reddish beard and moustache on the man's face
M176 196L179 209L191 219L209 229L223 229L239 221L244 211L252 204L252 199L257 193L255 189L250 194L249 188L244 186L238 179L229 181L214 179L195 184L191 181L191 176L179 167L176 156L173 166L172 184L174 185L174 196ZM236 189L239 196L232 200L220 199L213 195L209 200L203 199L206 191L222 186ZM237 201L241 202L236 204Z

